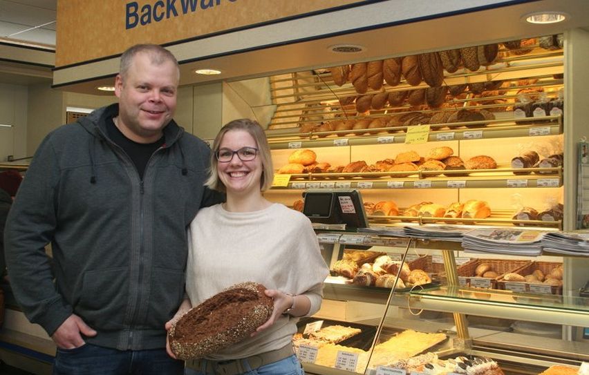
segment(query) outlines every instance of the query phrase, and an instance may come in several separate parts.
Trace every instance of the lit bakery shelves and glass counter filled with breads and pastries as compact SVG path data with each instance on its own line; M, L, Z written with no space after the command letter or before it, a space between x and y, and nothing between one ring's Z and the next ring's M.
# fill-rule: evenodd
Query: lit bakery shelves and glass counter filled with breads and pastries
M566 44L551 35L270 77L279 179L266 196L300 210L308 189L357 189L382 229L318 229L332 275L295 340L306 372L539 374L589 360L586 258L398 236L447 224L574 229ZM357 244L371 249L359 256ZM321 321L374 333L317 345Z

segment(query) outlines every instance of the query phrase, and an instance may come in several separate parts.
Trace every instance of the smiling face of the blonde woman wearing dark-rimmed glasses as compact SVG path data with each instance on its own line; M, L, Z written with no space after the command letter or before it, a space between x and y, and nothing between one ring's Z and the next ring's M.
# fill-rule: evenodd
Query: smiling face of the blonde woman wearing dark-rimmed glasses
M254 137L243 130L228 131L219 143L219 152L231 154L229 162L217 160L217 173L227 189L227 194L249 195L260 193L262 162L256 153L253 160L243 161L234 151L247 148L258 148ZM245 149L247 151L247 148Z

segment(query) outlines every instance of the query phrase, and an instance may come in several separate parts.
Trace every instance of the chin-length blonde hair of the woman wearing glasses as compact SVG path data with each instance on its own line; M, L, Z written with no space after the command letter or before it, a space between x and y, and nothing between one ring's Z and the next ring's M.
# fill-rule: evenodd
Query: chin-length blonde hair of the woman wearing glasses
M223 128L221 128L221 131L219 131L213 142L209 178L207 179L207 182L205 182L205 186L208 186L210 189L214 189L216 191L226 191L225 185L223 182L221 182L221 179L219 179L217 172L218 160L216 158L216 153L219 149L219 144L221 144L221 140L223 140L223 137L225 136L225 133L235 130L247 131L247 133L249 133L256 141L258 147L258 154L256 157L259 157L262 162L260 191L266 191L270 189L270 186L272 186L272 181L274 180L274 167L272 166L270 146L268 145L268 139L266 138L263 128L258 122L252 119L234 119L232 122L228 122L223 126Z

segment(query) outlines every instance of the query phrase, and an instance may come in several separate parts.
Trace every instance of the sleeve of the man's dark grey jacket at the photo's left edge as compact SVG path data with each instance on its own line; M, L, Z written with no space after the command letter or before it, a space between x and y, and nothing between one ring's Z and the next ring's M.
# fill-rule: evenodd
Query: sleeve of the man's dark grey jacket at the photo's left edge
M49 335L72 314L53 285L45 246L57 227L55 198L59 180L57 155L48 135L19 187L8 215L4 242L6 266L15 298L31 323Z

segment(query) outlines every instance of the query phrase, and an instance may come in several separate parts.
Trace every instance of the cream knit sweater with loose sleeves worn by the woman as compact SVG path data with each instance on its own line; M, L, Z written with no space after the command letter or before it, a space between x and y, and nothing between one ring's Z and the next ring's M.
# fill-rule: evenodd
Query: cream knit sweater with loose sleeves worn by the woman
M189 228L186 291L193 306L238 282L259 282L268 289L304 294L308 315L321 306L329 270L310 220L282 204L235 213L221 204L200 209ZM297 318L281 316L274 325L209 359L245 358L288 345Z

